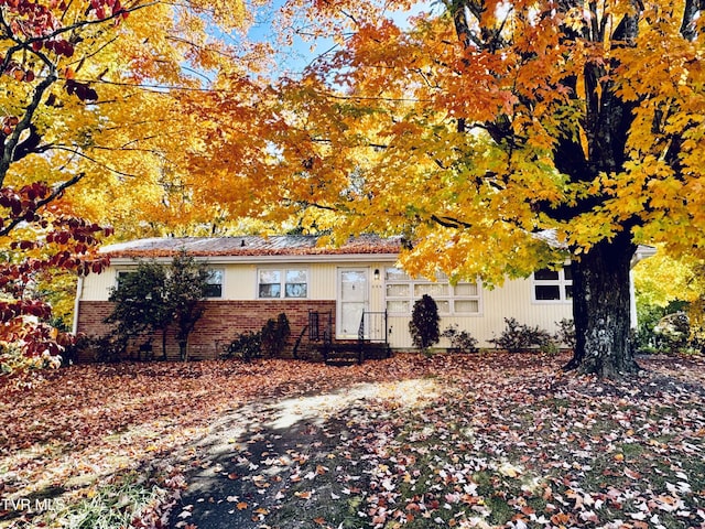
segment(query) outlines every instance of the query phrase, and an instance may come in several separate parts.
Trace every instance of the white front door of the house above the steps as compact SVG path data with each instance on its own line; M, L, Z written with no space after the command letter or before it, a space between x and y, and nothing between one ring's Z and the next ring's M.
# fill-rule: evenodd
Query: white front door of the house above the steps
M337 335L339 338L357 338L362 313L368 310L368 269L338 269Z

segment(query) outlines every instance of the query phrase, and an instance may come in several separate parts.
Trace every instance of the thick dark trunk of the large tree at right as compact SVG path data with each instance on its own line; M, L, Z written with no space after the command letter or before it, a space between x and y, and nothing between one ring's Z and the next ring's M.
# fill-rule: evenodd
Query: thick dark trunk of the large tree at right
M629 235L619 234L573 262L576 344L564 369L606 378L639 370L630 344L629 271L634 251Z

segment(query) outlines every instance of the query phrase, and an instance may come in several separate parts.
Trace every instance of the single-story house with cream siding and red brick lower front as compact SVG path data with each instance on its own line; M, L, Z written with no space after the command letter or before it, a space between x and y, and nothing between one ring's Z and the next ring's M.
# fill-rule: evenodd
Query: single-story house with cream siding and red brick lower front
M321 247L315 236L151 238L108 246L110 266L88 274L78 284L74 332L107 334L104 319L111 312L111 288L139 259L170 262L185 250L212 268L212 296L189 338L189 355L215 357L246 331L258 331L267 320L286 314L292 336L312 325L327 326L334 341L384 341L391 349L412 348L409 322L415 300L430 294L438 306L441 330L457 325L491 347L505 319L556 331L556 322L572 317L570 268L539 270L501 288L481 282L451 284L411 278L395 267L401 240L361 236L337 247ZM314 336L315 335L315 336ZM444 339L440 347L449 344ZM169 356L177 357L172 339Z

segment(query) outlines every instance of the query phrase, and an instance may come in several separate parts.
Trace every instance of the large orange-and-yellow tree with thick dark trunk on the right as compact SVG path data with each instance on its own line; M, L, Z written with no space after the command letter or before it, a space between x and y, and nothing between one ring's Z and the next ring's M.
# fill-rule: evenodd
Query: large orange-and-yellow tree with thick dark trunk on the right
M404 234L402 263L426 277L440 268L499 283L571 257L573 367L634 370L637 245L683 253L703 240L701 6L435 6L400 24L375 1L288 2L288 15L338 47L279 79L278 100L258 107L267 171L237 175L257 188L241 210L304 210L304 227L338 240ZM212 140L198 156L239 152Z

